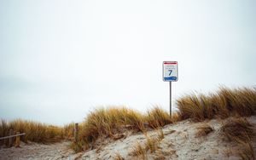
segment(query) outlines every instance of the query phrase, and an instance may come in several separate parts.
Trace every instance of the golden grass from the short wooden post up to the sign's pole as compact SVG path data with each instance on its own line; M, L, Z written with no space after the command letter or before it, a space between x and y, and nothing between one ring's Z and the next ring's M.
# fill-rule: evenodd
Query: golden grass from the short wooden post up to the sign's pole
M146 123L152 128L172 123L168 113L159 106L155 107L148 114L143 115L138 111L126 107L109 107L108 109L97 109L90 112L86 117L79 133L79 141L84 146L93 146L99 137L109 137L113 140L115 135L125 132L126 127L134 132L146 132ZM88 147L83 147L88 149ZM82 149L81 149L82 150Z

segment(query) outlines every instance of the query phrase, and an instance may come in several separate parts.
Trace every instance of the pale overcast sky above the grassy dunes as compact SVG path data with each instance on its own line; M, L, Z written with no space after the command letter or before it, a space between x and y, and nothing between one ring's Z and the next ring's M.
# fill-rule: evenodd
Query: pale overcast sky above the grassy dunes
M0 118L62 125L101 106L256 83L256 1L0 0Z

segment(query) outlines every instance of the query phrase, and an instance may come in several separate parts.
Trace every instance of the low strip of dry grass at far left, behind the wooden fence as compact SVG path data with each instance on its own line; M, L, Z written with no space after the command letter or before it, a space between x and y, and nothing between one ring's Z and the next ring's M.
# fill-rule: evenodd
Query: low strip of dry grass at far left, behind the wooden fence
M21 119L9 123L2 120L0 123L0 137L9 135L10 129L13 129L14 133L26 133L26 135L21 136L21 140L25 142L30 140L34 142L49 143L63 139L63 129L60 127Z

